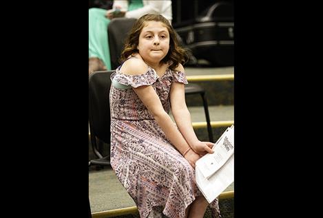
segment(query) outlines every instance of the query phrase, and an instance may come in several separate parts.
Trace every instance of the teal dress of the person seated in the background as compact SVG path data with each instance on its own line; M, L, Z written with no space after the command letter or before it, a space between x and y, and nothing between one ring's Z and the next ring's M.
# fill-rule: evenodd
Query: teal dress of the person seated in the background
M128 11L143 8L142 0L130 0ZM107 25L110 19L105 17L107 10L89 9L89 58L100 58L107 69L111 69L110 48L107 36Z

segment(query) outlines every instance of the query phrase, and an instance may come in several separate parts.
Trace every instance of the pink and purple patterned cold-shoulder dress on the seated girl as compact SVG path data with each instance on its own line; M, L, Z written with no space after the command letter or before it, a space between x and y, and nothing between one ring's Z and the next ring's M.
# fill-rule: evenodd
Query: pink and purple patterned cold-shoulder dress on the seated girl
M185 208L201 195L194 168L175 149L132 87L152 85L167 113L171 83L187 84L184 72L167 69L158 76L148 67L145 74L112 74L111 165L140 217L185 217ZM114 85L118 83L123 87ZM211 203L213 217L220 217L218 199Z

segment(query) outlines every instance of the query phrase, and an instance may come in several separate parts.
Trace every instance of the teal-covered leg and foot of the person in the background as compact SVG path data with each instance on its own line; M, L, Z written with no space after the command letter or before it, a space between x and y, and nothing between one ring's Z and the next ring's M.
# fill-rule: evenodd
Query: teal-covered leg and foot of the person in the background
M107 10L89 9L89 74L96 70L111 69L107 25Z

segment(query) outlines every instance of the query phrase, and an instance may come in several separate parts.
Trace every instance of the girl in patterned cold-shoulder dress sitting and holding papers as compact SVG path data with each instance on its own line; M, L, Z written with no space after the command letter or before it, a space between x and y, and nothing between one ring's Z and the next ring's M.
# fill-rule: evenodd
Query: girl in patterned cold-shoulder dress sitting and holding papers
M195 163L213 153L200 142L185 103L187 50L165 17L134 23L112 74L111 164L140 217L203 217L209 205L195 183ZM169 110L176 125L169 117ZM218 199L210 204L220 217Z

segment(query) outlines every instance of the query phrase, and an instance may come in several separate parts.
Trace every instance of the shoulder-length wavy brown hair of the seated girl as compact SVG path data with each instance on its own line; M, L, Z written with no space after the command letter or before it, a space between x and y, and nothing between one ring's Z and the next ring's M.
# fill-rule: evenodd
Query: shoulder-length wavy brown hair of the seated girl
M189 55L191 52L181 47L178 43L178 39L176 37L176 32L173 27L170 25L169 21L165 19L160 14L145 14L143 17L140 17L132 26L132 30L129 32L127 38L125 39L125 48L121 53L120 61L123 62L134 53L138 53L138 43L139 43L139 35L141 30L145 27L147 21L158 21L165 24L168 32L169 32L169 50L167 55L161 60L163 63L169 63L169 69L176 69L179 63L184 65L189 60Z

